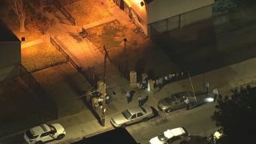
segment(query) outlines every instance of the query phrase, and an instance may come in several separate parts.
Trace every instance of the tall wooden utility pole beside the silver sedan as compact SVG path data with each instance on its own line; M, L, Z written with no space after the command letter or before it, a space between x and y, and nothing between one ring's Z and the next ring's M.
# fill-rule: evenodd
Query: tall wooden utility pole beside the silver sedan
M109 58L109 60L110 60L110 56L107 53L105 46L103 46L103 50L105 51L105 55L104 55L104 78L103 78L104 90L103 90L103 94L102 94L102 96L103 96L103 102L102 102L102 126L105 126L105 113L106 113L106 58Z

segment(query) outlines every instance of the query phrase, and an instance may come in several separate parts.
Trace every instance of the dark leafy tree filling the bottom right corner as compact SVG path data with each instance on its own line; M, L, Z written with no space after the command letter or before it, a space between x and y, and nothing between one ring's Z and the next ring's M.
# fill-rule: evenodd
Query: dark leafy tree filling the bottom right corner
M256 142L256 88L241 87L232 90L231 98L218 99L212 120L216 122L222 138L217 143Z

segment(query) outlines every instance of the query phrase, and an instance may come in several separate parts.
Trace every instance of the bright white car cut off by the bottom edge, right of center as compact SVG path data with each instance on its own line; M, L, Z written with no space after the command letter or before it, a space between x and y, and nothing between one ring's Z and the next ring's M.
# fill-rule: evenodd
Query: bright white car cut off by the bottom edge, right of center
M188 141L189 135L183 127L166 130L158 136L151 138L149 144L170 144Z

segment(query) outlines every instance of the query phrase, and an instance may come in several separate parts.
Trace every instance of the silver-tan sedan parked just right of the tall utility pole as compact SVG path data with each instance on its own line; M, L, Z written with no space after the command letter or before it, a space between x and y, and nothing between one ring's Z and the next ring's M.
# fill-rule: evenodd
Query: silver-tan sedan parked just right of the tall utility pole
M125 127L135 122L147 121L152 117L154 117L153 107L137 106L122 111L122 114L115 115L110 122L114 127Z

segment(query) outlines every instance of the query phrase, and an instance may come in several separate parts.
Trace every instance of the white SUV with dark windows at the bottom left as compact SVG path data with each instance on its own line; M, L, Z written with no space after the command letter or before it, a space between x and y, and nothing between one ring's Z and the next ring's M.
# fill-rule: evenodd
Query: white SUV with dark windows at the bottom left
M59 123L42 124L26 130L24 138L29 144L42 144L55 139L60 140L65 137L65 134L65 129Z

